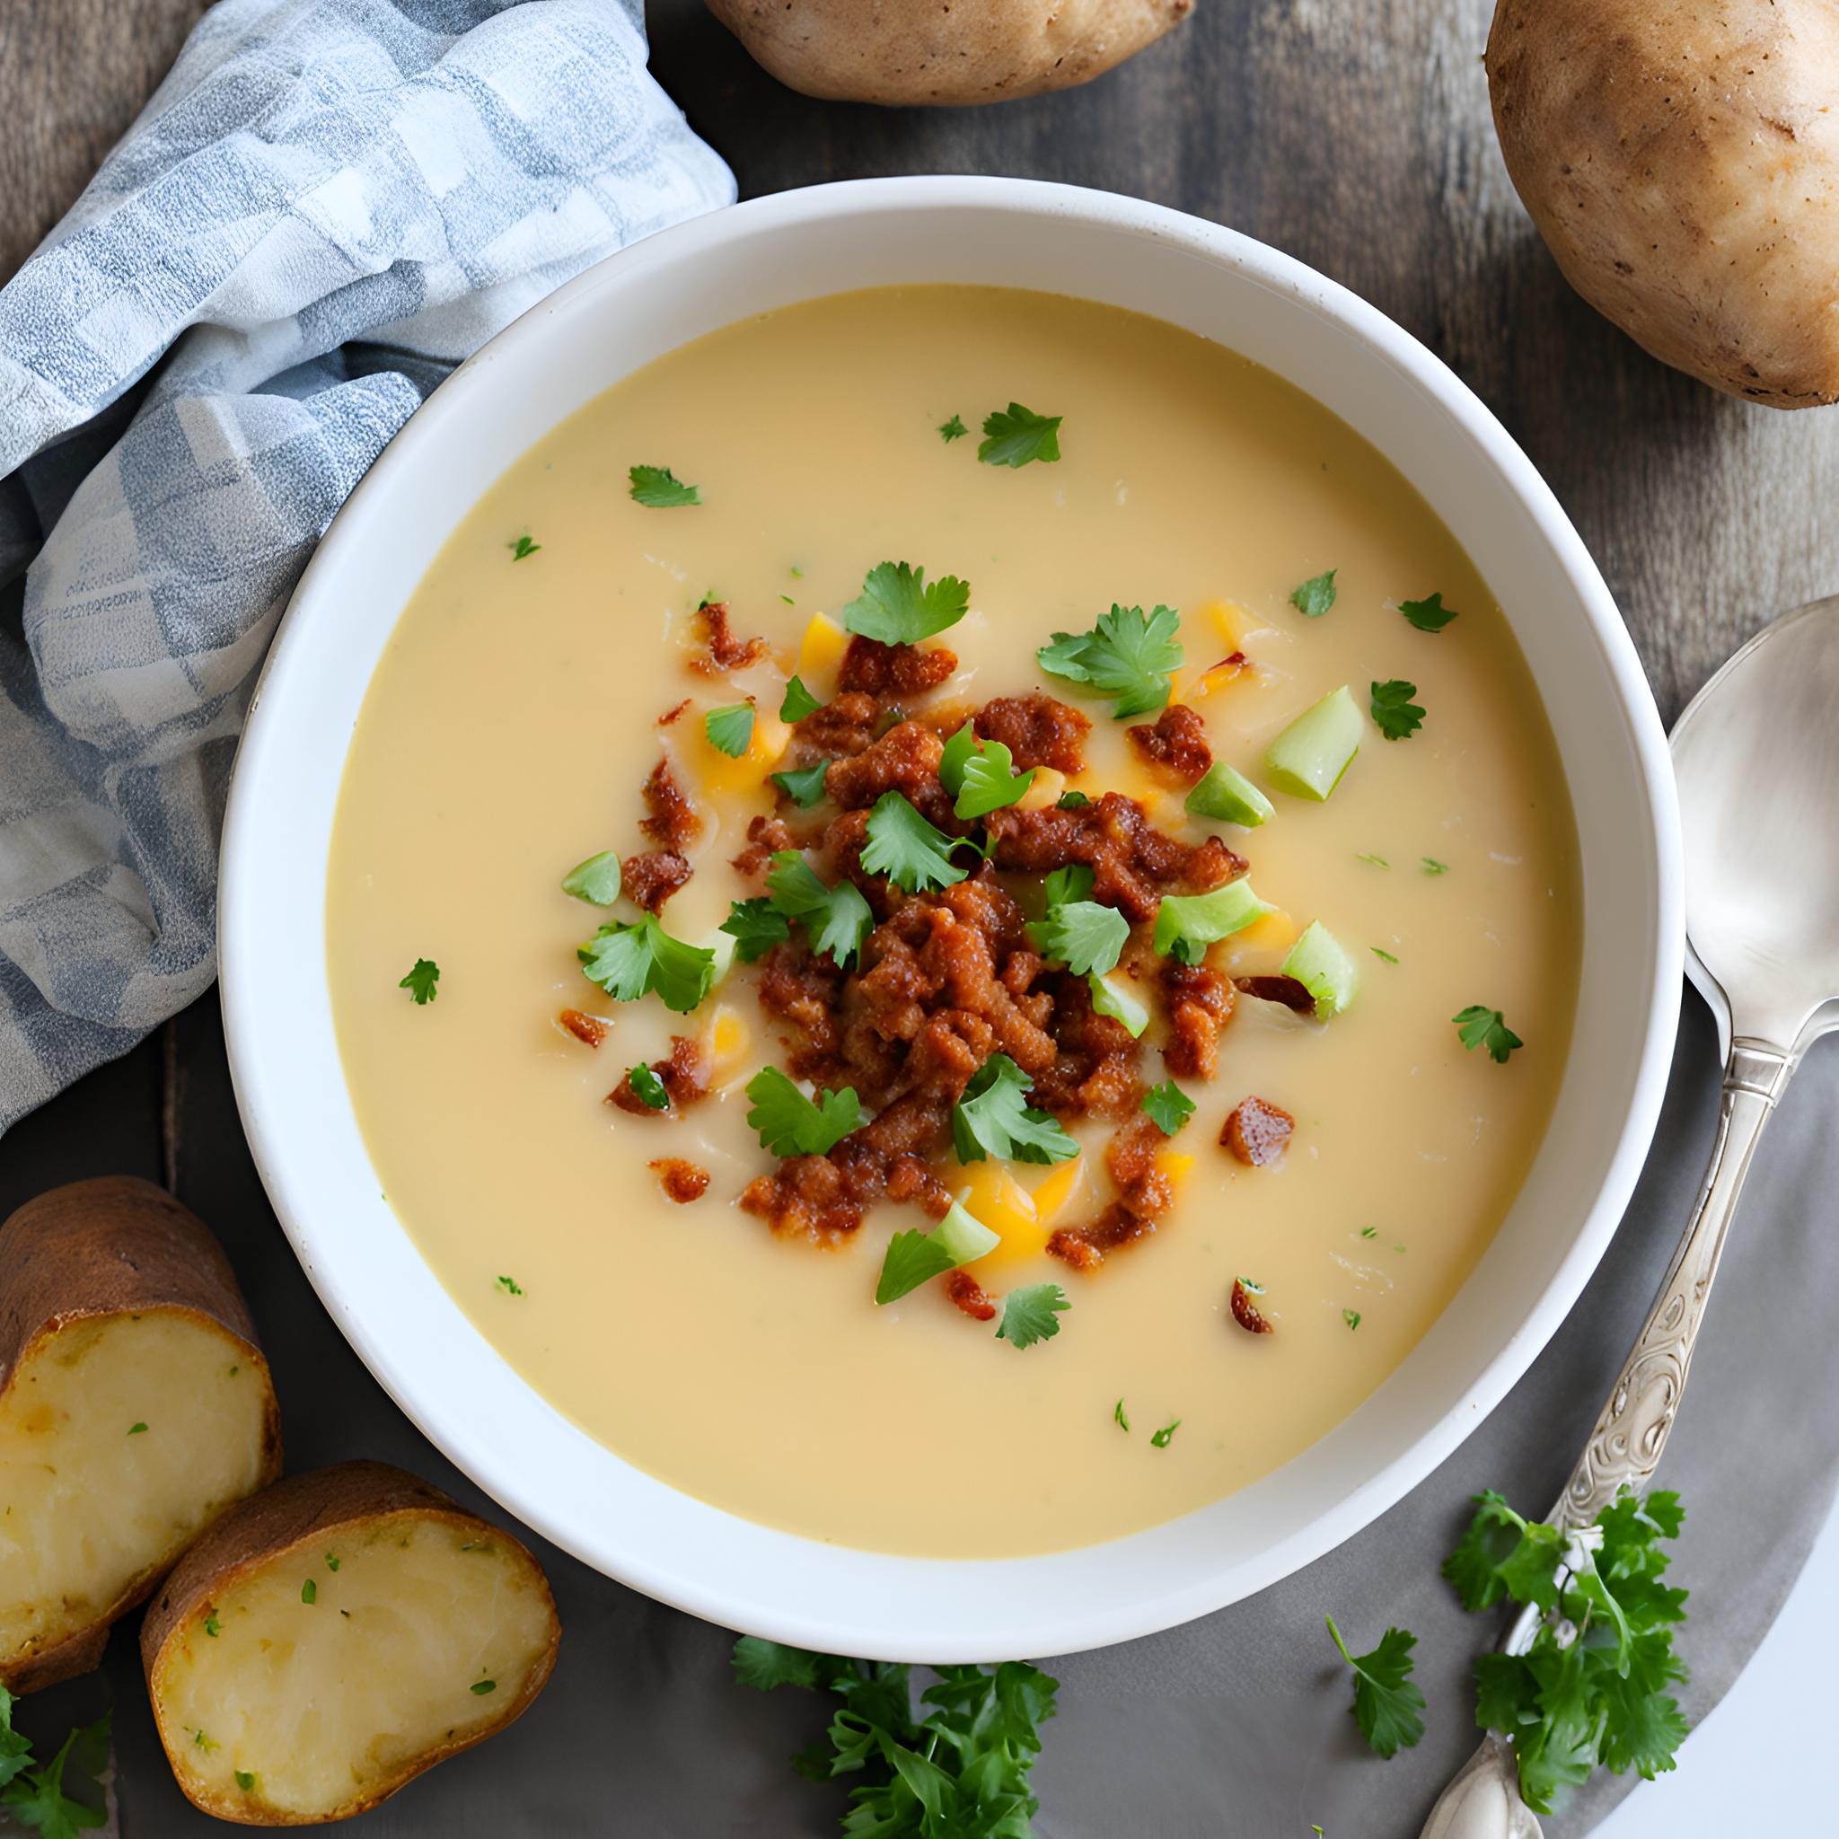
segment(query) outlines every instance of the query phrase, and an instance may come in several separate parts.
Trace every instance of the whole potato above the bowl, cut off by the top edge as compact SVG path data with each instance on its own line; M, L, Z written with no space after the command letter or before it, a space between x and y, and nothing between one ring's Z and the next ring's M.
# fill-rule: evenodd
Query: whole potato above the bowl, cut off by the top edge
M999 103L1091 83L1194 0L708 0L758 64L826 101Z

